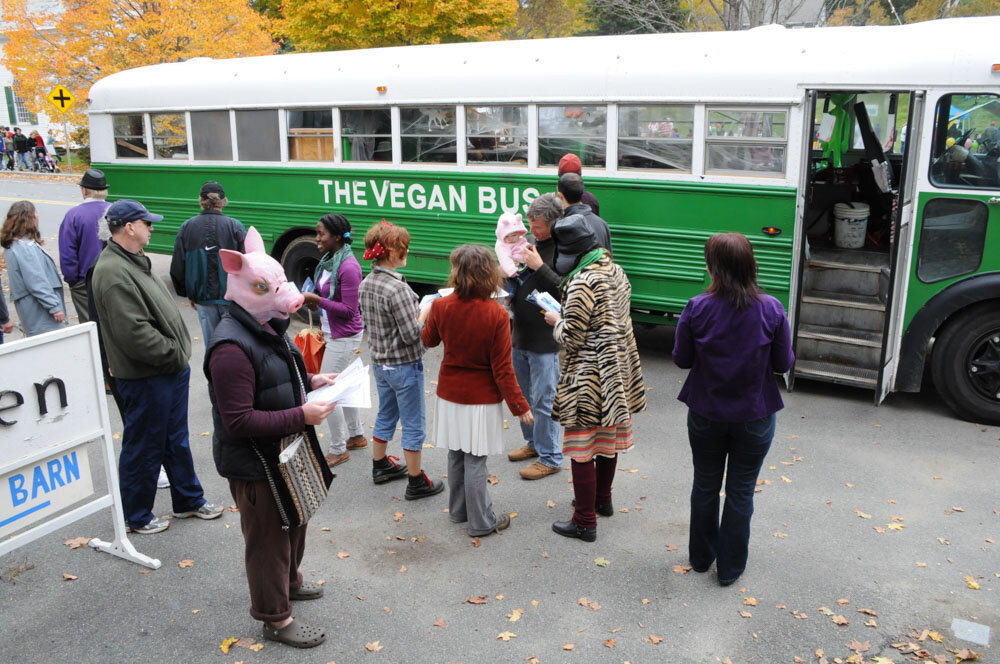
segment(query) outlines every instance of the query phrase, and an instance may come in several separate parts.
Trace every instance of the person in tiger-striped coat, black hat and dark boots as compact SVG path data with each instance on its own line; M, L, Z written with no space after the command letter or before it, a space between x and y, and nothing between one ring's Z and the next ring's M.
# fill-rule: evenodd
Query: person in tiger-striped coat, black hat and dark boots
M565 176L564 176L565 177ZM556 271L565 273L562 315L546 312L566 351L552 416L566 428L575 510L552 530L597 539L597 513L614 514L611 486L618 453L632 449L632 414L646 407L639 351L629 316L632 288L581 215L556 222Z

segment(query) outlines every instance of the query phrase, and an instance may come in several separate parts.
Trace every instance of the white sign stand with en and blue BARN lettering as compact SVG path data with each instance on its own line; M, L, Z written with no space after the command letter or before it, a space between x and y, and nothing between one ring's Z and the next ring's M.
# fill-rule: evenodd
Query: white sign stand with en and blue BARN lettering
M108 492L57 514L93 496L87 447L98 438ZM159 569L126 535L116 461L97 326L0 344L0 556L110 507L114 541L89 545ZM15 532L34 522L41 523Z

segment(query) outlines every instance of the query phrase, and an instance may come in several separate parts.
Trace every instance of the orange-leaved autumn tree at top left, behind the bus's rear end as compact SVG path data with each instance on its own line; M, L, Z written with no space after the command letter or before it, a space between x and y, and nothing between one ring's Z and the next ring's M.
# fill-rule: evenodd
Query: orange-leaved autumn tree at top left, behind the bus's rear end
M3 0L3 64L29 110L48 110L45 96L65 85L78 99L67 113L85 125L83 103L99 79L133 67L188 58L274 53L267 18L245 0L69 0L61 13L28 11L27 0Z

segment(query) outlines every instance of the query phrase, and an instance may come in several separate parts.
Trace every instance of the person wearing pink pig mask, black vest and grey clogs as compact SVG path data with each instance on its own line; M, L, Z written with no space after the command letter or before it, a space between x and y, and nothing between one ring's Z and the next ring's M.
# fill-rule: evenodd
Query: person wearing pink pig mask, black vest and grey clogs
M335 402L306 402L306 392L334 381L336 374L308 374L298 348L286 334L289 314L303 297L271 258L257 229L250 228L246 253L220 250L229 275L231 301L205 353L215 433L212 453L219 474L240 511L250 585L250 615L264 623L264 638L297 648L326 639L323 629L292 619L291 600L319 599L323 588L302 580L306 525L286 520L273 491L278 454L305 432L322 459L314 427ZM333 475L320 464L329 486ZM275 487L272 489L272 487Z

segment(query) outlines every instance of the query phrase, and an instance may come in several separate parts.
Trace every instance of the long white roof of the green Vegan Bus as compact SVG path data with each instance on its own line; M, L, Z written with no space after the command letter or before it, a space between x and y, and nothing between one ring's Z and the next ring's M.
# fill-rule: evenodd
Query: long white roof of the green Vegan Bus
M91 113L407 103L774 100L802 87L1000 87L1000 17L903 26L571 37L153 65L90 90ZM385 91L377 88L384 86Z

